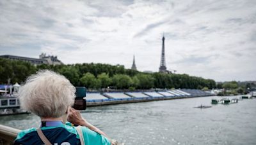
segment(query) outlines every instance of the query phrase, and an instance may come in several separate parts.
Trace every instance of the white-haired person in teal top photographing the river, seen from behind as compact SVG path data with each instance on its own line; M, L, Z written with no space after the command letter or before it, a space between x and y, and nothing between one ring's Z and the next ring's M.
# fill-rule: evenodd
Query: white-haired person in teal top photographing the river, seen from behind
M20 106L39 116L42 123L39 128L22 130L14 144L111 144L104 132L71 107L75 92L70 81L56 72L30 76L19 90Z

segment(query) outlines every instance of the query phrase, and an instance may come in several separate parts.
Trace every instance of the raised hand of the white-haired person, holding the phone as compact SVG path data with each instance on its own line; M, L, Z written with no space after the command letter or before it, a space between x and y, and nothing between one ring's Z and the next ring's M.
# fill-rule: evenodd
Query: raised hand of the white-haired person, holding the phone
M82 118L80 112L72 107L69 108L68 121L74 125L86 125L86 120Z

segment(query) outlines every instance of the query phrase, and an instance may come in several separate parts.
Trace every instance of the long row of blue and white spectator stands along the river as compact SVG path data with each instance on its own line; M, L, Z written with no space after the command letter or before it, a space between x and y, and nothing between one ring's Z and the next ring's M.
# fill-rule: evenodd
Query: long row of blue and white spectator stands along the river
M214 94L195 89L161 90L157 92L89 92L86 93L86 106L148 102L154 100L185 99L212 95Z

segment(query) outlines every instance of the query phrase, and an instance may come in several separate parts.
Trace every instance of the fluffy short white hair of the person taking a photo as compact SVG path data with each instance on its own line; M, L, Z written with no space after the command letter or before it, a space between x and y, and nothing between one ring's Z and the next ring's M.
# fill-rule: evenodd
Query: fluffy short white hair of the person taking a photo
M19 89L20 106L40 117L58 118L74 104L76 88L65 76L43 70L29 76Z

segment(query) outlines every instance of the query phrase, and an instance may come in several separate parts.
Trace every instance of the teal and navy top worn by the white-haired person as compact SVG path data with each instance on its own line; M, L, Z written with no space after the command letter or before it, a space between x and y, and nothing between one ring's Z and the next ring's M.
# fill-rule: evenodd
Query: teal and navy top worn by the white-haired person
M66 125L61 124L56 127L42 127L41 129L45 137L54 145L81 144L76 128L72 127L70 123L66 123ZM86 145L111 144L106 137L89 128L82 127L82 132L84 135L84 144ZM44 142L38 136L36 128L29 128L22 130L17 135L14 144L44 144Z

